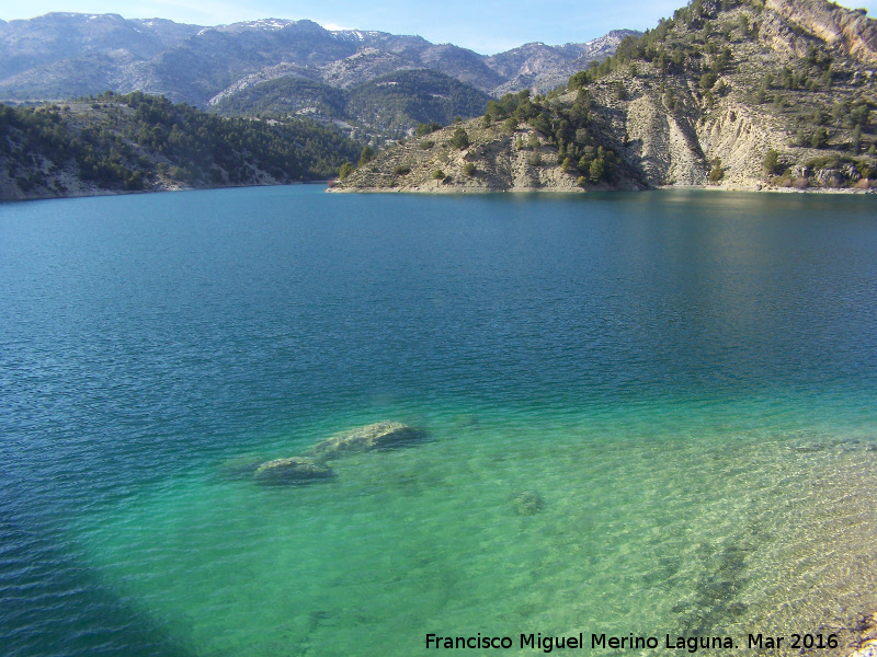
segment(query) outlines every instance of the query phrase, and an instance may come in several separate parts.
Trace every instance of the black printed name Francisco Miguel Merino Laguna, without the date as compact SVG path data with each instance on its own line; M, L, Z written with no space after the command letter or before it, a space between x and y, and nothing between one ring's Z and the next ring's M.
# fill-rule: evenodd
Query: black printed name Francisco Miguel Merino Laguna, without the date
M428 648L445 649L475 649L475 648L502 648L509 649L514 645L511 636L481 636L479 632L475 636L440 636L437 634L426 635ZM584 633L579 632L573 636L543 636L540 632L535 634L521 634L517 645L521 649L532 648L550 653L551 650L583 649L585 647ZM657 636L606 636L605 634L591 634L591 648L657 648L658 646L669 649L686 650L696 653L698 649L729 649L734 648L733 639L730 636L676 636L671 638L665 635L663 644Z

